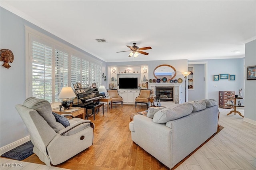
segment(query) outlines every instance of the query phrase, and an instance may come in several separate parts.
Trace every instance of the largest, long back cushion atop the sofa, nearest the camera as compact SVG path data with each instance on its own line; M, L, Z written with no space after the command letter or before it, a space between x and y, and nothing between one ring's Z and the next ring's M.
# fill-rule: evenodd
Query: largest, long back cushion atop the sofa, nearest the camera
M170 120L175 120L192 113L193 106L191 103L175 104L168 106L156 112L153 117L155 123L166 123Z

